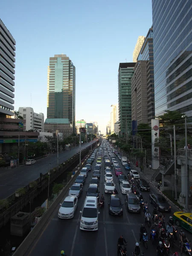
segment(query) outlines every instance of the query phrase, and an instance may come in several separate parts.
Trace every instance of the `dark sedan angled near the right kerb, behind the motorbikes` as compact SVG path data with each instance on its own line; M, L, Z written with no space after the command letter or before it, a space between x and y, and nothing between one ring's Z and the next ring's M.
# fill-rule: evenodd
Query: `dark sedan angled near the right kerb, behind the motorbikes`
M171 211L171 207L170 207L168 201L166 200L166 198L163 197L163 195L150 194L149 202L151 204L154 204L157 211L162 211L162 212L170 212Z

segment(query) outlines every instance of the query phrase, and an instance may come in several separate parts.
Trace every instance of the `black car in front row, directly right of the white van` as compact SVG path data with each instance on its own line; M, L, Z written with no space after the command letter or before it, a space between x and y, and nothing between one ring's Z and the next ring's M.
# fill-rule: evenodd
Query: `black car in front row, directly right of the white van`
M121 203L121 199L119 195L110 195L109 197L109 214L111 215L123 215L123 204Z

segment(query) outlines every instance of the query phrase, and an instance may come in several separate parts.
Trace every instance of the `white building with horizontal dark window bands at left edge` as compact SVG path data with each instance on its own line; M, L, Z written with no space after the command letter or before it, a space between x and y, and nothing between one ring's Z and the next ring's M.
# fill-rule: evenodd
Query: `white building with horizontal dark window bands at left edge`
M0 114L13 116L15 39L0 19Z

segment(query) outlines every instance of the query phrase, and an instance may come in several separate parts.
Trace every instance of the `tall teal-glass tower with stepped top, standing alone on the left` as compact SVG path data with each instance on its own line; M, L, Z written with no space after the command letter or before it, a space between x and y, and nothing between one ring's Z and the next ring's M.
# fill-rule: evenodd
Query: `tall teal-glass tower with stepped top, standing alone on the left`
M49 58L47 119L69 119L75 132L76 68L65 54Z

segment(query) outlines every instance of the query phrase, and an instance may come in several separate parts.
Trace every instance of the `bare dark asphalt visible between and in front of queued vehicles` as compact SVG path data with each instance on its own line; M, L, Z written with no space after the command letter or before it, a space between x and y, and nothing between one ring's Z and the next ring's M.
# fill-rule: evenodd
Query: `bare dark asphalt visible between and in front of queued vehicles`
M116 157L117 158L117 157ZM121 165L121 162L117 158L117 161ZM96 164L96 159L93 163L92 169ZM134 169L134 168L133 168ZM122 167L122 170L124 168ZM93 172L93 170L91 171ZM141 224L144 223L143 212L140 214L137 213L128 213L125 209L125 204L123 205L123 216L111 216L108 214L108 200L110 194L104 193L104 164L102 163L101 169L101 178L99 184L100 195L103 193L105 196L105 207L100 209L99 215L99 229L98 231L81 231L79 229L80 216L86 190L89 185L90 178L92 173L89 172L84 185L84 191L79 198L78 207L76 214L71 220L60 220L58 219L58 207L55 208L55 211L50 218L46 227L44 227L43 232L38 236L34 244L29 248L29 251L26 253L26 256L36 256L36 255L59 255L61 250L65 250L67 256L77 256L77 255L99 255L99 256L113 256L117 254L117 240L120 235L123 235L128 241L127 250L128 255L131 255L131 252L134 248L135 243L139 240L139 233ZM124 171L127 172L127 171ZM113 173L114 175L114 173ZM113 181L116 183L116 189L119 192L119 196L124 203L125 195L122 195L120 192L119 183L117 177L114 175ZM157 190L151 186L151 192L157 193ZM142 192L143 197L148 200L149 192ZM66 195L67 196L67 195ZM149 201L149 200L148 200ZM152 212L153 206L149 205L149 211ZM177 208L173 206L171 213L165 213L166 222L169 219L169 216L173 212L177 211ZM149 228L148 232L149 232ZM180 229L178 229L180 230ZM186 235L189 239L192 239L192 235L186 231ZM177 243L178 244L178 243ZM180 252L178 245L175 245L172 251ZM141 243L141 250L145 255L156 255L157 244L152 246L151 241L148 241L148 250L143 247Z

